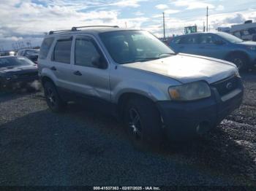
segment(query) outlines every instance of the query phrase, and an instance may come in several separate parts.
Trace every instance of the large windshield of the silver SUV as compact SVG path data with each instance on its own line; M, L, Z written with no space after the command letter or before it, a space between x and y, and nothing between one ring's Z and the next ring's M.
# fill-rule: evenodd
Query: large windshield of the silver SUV
M116 63L151 61L175 54L146 31L112 31L99 36Z

